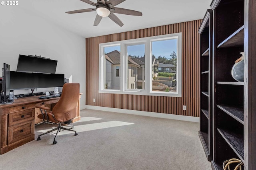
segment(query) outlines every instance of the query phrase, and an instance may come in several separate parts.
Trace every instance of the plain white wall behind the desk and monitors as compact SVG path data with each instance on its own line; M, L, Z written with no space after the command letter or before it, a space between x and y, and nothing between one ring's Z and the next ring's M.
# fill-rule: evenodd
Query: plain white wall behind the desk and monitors
M79 26L79 25L78 25ZM16 71L18 56L42 55L57 60L56 73L72 75L80 83L81 108L85 106L85 38L18 6L0 7L0 68L3 63ZM42 91L38 89L37 92ZM30 93L30 90L23 90ZM36 92L36 91L34 91Z

